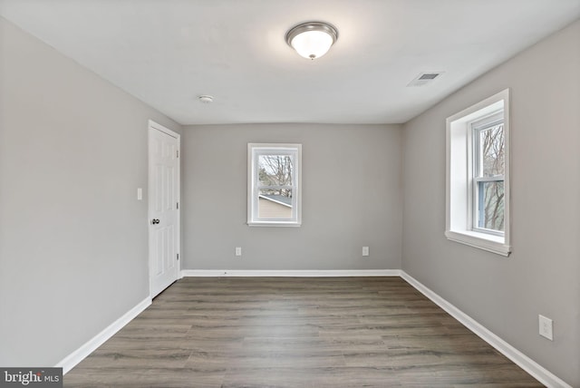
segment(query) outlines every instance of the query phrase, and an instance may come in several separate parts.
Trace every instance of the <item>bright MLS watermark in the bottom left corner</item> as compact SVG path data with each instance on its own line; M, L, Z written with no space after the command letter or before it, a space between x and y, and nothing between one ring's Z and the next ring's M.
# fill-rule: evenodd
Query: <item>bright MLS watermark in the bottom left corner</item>
M63 368L0 368L0 388L63 388Z

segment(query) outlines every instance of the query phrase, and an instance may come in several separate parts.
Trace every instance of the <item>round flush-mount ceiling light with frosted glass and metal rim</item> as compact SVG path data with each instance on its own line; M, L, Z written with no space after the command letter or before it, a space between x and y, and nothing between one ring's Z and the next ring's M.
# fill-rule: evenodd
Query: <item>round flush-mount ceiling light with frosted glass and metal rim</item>
M330 50L338 39L338 31L324 22L298 24L286 33L286 43L307 59L316 59Z

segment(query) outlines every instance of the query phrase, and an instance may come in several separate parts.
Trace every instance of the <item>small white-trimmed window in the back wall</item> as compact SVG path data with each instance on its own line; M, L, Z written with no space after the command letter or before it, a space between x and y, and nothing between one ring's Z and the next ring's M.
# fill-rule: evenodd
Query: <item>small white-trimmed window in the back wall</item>
M247 144L247 224L299 227L301 144Z

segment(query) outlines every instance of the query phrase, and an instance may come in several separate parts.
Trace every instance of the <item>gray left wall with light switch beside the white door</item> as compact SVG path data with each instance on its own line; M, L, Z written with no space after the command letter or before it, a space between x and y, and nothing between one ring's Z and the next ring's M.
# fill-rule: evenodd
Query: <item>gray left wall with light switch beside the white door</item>
M148 119L180 128L2 18L0 85L0 365L50 366L149 296Z

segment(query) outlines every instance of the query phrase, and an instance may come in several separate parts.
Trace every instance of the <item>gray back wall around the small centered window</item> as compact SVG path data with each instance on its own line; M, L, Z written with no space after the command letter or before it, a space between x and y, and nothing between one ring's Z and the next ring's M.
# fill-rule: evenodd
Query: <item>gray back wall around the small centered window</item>
M303 144L301 228L246 225L248 142ZM189 126L181 144L185 269L401 267L401 126Z

